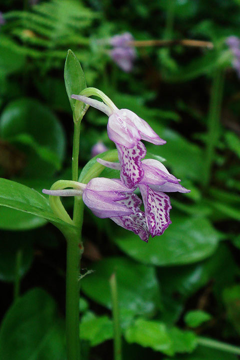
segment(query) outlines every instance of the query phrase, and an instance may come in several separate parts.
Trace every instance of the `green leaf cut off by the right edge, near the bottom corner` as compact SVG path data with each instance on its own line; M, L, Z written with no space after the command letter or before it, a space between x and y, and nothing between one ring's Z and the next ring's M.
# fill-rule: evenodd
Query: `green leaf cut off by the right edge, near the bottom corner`
M240 334L240 285L226 287L223 291L223 301L227 316L238 334Z

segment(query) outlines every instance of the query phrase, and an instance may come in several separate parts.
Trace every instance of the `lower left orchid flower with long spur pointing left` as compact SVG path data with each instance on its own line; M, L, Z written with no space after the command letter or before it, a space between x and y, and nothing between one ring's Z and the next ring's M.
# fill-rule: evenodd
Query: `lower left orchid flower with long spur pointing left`
M141 199L119 179L94 177L87 184L75 181L76 188L47 190L42 192L53 196L82 196L84 204L100 218L109 217L118 225L133 231L147 241L147 229L144 212L140 209Z

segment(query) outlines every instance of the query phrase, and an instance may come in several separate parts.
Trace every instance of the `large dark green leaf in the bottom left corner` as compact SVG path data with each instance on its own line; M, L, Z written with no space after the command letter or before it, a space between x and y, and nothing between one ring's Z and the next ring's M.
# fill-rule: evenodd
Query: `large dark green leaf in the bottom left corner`
M64 337L56 304L34 288L8 309L0 328L3 360L64 360Z

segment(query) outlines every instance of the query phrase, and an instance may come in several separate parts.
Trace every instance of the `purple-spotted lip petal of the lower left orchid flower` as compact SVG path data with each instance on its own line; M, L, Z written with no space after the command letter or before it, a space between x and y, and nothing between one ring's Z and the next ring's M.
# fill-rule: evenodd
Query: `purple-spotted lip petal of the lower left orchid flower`
M117 201L129 207L133 213L127 216L117 216L111 217L111 219L124 227L127 230L133 231L138 235L143 241L148 241L149 232L147 229L146 218L144 212L140 209L142 201L134 193L127 194L125 199Z

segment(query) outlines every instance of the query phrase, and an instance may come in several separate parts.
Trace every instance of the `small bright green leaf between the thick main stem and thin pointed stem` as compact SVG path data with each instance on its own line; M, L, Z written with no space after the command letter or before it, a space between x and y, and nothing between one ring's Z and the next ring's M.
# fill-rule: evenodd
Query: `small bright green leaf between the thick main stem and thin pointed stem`
M91 346L113 337L112 321L107 316L96 316L87 312L80 322L80 338L90 341Z

